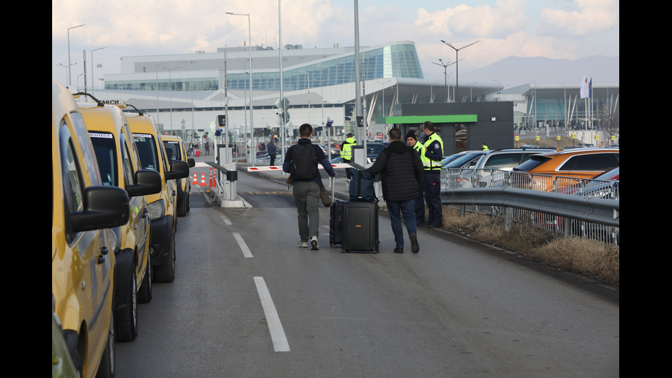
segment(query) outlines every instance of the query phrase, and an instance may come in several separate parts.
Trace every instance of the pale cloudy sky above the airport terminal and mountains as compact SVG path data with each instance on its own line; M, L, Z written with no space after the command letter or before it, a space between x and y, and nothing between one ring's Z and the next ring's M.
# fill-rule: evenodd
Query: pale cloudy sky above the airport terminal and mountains
M278 12L280 4L280 12ZM487 66L507 56L576 60L619 56L619 0L359 0L359 44L398 40L416 44L424 77L443 80L432 62L455 61L459 72ZM354 0L116 0L51 1L51 78L67 81L68 29L72 82L83 84L83 50L91 78L119 73L121 56L215 52L217 47L278 47L278 15L283 45L355 45ZM103 49L100 49L103 47ZM448 68L450 70L450 68ZM449 71L450 72L450 71ZM90 83L91 80L88 80Z

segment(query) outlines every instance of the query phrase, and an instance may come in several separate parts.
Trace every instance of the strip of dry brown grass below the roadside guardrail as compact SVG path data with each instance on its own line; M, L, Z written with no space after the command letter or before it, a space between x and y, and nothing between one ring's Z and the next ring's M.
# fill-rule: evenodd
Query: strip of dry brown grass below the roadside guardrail
M444 206L444 228L486 244L518 252L555 268L590 276L602 283L619 285L619 248L599 241L567 239L549 231L514 224L506 231L503 220Z

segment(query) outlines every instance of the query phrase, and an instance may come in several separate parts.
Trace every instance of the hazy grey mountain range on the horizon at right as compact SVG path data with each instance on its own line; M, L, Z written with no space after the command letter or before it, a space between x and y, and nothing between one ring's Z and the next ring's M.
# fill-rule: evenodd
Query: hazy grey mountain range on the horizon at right
M459 73L460 82L497 81L510 88L536 84L579 84L584 77L593 85L619 84L619 57L589 56L577 60L509 56L488 66Z

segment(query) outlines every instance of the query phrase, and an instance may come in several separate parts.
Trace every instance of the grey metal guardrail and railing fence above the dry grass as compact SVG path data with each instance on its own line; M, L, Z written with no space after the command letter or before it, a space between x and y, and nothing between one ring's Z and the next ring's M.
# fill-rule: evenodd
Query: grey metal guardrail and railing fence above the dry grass
M512 222L532 224L566 237L619 246L619 180L553 178L492 169L443 170L442 201L463 215L487 213L503 218L507 228ZM483 180L487 176L490 179Z

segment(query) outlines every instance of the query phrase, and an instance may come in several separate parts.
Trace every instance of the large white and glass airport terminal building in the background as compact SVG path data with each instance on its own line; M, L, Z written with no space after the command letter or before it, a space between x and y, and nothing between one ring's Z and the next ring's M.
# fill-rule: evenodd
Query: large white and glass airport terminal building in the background
M326 140L327 121L333 121L333 140L342 139L347 132L374 140L381 134L385 138L385 130L396 124L391 122L395 118L388 117L423 116L425 111L427 115L455 115L450 113L472 109L479 119L464 118L470 123L467 128L478 128L480 122L499 117L506 119L499 127L507 130L498 134L513 135L536 128L565 132L568 128L595 127L619 110L618 84L593 87L590 102L579 97L579 83L528 83L502 90L487 78L479 83L459 82L455 88L451 82L424 79L413 42L359 50L364 99L359 125L368 132L357 127L355 47L225 47L213 53L124 56L121 73L104 75L104 89L90 92L99 99L123 99L152 115L162 131L187 140L215 130L219 115L226 115L232 137L263 140L278 135L282 130L281 97L288 104L287 136L294 137L296 126L311 123L321 140ZM511 116L492 113L488 117L488 104L494 102L510 104L505 108L511 108ZM479 104L463 108L455 103ZM479 110L473 110L474 106ZM502 106L492 109L500 112ZM460 128L453 126L451 130Z

